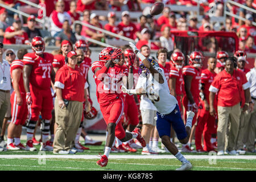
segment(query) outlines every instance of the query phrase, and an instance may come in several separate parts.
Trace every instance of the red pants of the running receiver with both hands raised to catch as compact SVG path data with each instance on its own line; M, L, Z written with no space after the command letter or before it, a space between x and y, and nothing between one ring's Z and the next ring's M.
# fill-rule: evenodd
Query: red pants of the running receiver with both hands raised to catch
M125 130L123 129L122 122L119 122L124 109L122 98L108 101L108 104L104 106L100 105L100 109L106 125L108 125L108 123L115 123L115 137L118 139L124 138Z

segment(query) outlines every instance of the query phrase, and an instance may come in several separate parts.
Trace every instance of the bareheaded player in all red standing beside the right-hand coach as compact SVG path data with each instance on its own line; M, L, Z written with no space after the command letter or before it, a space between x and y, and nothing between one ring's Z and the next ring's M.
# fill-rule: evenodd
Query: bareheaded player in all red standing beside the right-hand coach
M196 133L195 133L195 144L197 152L209 152L214 150L212 144L210 143L210 138L214 130L215 117L209 113L209 88L212 84L214 77L217 75L214 72L216 68L217 61L215 58L210 57L208 59L208 68L204 69L201 73L201 104L203 105L202 109L199 109ZM217 100L215 100L214 106L217 109ZM204 148L201 145L202 134L204 137Z

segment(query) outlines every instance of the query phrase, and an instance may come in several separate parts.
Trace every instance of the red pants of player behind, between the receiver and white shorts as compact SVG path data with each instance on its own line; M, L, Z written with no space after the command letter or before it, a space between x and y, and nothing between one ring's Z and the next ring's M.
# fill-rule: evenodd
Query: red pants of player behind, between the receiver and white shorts
M128 118L129 125L134 125L137 126L139 123L139 112L138 112L138 107L137 104L134 100L134 96L125 96L125 115Z

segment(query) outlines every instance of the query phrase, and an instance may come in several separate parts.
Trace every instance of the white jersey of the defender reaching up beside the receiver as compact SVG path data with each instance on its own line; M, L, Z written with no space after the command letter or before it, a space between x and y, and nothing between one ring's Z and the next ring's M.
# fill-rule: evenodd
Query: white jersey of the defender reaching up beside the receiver
M147 82L142 86L146 90L146 94L151 102L155 105L160 114L169 114L175 109L177 100L170 94L170 90L167 84L167 80L164 77L164 71L162 68L157 68L157 71L162 75L164 83L159 84L154 79L152 74L149 74Z

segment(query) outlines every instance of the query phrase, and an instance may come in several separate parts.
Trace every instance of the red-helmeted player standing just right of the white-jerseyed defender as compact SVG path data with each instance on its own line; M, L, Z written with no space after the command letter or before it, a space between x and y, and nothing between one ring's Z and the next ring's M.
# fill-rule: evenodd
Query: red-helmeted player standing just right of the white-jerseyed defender
M184 107L184 120L187 121L187 111L192 110L195 115L199 107L199 93L201 85L201 67L203 65L203 55L201 52L194 51L189 55L189 65L182 69L184 77L185 96L182 99ZM192 152L189 145L192 142L193 133L195 132L196 117L192 121L191 137L188 144L183 145L183 152Z

